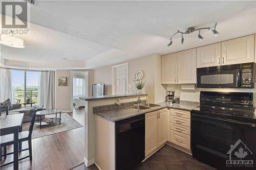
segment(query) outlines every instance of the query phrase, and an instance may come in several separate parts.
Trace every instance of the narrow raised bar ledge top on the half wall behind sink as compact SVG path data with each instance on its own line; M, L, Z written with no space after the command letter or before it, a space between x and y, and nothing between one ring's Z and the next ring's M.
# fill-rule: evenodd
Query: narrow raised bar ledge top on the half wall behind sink
M126 98L134 97L139 98L141 96L147 96L147 94L116 94L116 95L99 95L99 96L86 96L80 97L79 99L84 101L102 100L102 99L115 99L115 98Z

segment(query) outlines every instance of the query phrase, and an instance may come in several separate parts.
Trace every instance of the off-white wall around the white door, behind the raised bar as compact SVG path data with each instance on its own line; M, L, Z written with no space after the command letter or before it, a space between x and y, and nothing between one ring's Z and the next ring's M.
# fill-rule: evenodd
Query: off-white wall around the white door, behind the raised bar
M128 90L129 93L136 93L133 78L137 71L143 71L143 81L146 86L142 89L143 93L147 93L148 102L163 102L165 97L165 89L161 82L161 57L153 54L129 60L122 63L128 63ZM115 65L119 65L118 63ZM97 68L94 70L94 83L104 83L106 85L105 94L112 94L112 66ZM158 82L158 83L157 83Z

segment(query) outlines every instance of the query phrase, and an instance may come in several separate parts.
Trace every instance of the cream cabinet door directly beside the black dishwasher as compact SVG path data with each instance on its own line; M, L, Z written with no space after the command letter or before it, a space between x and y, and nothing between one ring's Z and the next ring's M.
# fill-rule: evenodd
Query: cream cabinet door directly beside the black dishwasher
M157 149L157 112L145 114L145 157Z

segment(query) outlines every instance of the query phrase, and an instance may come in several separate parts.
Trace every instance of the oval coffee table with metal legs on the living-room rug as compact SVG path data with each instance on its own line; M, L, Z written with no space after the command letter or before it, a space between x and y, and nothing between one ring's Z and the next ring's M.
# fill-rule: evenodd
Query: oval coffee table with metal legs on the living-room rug
M60 125L61 111L62 110L59 110L59 109L46 109L46 110L37 111L36 112L37 122L35 123L35 125L39 125L40 129L41 129L41 126L46 126L46 125L51 125L51 124L56 124L56 123L59 123L59 125ZM59 113L59 118L57 117L57 113ZM55 118L53 118L53 122L51 122L51 123L42 122L41 116L47 115L47 114L56 114ZM38 117L40 117L39 120L38 120Z

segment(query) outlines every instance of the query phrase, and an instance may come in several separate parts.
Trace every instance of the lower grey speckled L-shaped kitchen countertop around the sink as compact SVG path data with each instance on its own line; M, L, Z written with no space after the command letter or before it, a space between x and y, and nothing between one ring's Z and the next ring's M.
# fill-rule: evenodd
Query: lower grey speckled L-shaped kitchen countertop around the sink
M163 103L158 103L158 104L161 106L147 109L147 110L137 110L137 109L133 109L130 107L118 107L115 109L94 111L94 114L96 114L100 117L103 117L111 122L118 122L118 121L126 119L126 118L131 118L134 116L138 116L138 115L145 114L145 113L150 113L150 112L157 111L157 110L164 109L164 108L192 110L195 107L199 106L199 104L196 105L197 103L195 103L195 102L193 102L193 103L182 102L181 104L166 104L165 102L163 102Z

